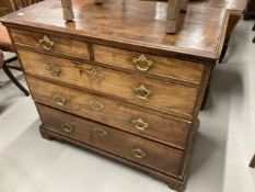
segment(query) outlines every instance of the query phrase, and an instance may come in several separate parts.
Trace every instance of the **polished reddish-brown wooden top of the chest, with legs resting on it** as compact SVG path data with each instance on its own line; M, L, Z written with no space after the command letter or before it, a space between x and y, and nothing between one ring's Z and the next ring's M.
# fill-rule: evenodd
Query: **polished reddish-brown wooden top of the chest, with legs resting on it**
M84 41L102 41L126 47L151 48L167 56L196 57L215 61L223 42L228 12L224 9L190 3L183 14L182 30L165 34L165 2L107 0L95 5L94 0L72 0L76 22L62 19L60 1L46 0L1 19L5 24L63 32L82 36ZM124 3L126 2L126 3ZM208 14L209 13L209 14ZM113 45L114 46L114 45Z

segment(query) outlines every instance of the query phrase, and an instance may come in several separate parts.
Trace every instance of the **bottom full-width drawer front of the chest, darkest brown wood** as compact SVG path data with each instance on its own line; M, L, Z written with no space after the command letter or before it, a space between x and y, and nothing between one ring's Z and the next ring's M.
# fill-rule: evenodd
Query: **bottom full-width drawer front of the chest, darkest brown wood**
M134 162L178 176L183 151L37 104L44 127Z

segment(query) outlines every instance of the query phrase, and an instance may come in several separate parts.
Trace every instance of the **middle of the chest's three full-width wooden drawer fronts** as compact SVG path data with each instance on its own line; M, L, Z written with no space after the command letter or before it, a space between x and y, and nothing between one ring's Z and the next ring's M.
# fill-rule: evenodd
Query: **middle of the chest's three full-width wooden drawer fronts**
M34 78L27 77L26 80L37 102L166 145L185 148L190 127L188 122Z

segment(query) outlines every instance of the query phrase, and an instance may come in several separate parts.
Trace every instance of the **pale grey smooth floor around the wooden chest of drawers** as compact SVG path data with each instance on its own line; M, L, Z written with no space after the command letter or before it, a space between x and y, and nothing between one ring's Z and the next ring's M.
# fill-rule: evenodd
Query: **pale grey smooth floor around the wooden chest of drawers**
M187 192L254 192L255 44L240 22L212 78L194 145ZM25 84L21 72L18 79ZM40 121L0 71L0 192L167 192L166 184L120 163L40 138Z

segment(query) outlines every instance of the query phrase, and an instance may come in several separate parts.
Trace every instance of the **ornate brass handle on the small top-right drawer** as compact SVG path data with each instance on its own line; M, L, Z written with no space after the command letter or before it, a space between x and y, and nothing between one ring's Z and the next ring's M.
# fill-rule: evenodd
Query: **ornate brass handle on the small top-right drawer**
M149 60L143 54L138 58L134 58L132 63L135 67L142 72L148 72L154 66L154 63Z

